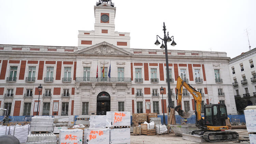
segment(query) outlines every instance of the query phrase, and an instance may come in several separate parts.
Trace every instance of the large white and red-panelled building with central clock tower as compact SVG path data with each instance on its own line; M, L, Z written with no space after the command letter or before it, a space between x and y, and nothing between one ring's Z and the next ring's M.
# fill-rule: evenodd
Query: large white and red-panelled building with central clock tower
M94 10L95 30L79 30L77 47L0 45L1 108L11 116L35 115L42 84L39 115L166 113L165 52L130 48L129 33L115 32L116 8L102 3ZM168 56L174 106L180 75L201 91L203 103L225 103L228 114L237 114L226 53L169 50ZM182 109L193 110L193 103L184 89Z

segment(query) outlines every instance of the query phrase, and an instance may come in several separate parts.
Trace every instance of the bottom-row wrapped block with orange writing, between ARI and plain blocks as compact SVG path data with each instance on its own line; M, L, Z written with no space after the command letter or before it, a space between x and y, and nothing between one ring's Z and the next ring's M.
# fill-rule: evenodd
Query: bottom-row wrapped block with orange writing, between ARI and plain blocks
M109 128L84 129L84 144L109 144L109 130Z

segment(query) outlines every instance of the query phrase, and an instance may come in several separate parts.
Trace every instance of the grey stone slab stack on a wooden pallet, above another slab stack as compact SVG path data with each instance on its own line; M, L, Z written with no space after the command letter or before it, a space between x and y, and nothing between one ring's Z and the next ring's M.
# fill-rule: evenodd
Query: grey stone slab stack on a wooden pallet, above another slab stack
M53 131L54 118L51 116L34 116L31 118L30 131Z

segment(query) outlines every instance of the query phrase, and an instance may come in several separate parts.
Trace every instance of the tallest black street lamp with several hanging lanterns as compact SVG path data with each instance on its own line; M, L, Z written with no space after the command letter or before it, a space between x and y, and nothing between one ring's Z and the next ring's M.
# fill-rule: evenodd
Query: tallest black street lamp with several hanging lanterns
M167 73L167 85L168 85L168 112L171 112L171 108L173 108L172 105L172 97L171 97L171 87L170 87L170 76L169 76L169 63L168 63L168 51L167 51L167 42L171 42L172 46L175 46L176 43L174 42L173 36L169 37L169 32L167 32L166 35L166 27L165 27L165 22L163 22L163 39L159 37L159 35L156 35L156 42L155 45L159 45L160 42L158 41L157 38L162 40L162 45L160 46L161 49L165 49L165 59L166 59L166 73ZM163 42L165 43L163 45Z

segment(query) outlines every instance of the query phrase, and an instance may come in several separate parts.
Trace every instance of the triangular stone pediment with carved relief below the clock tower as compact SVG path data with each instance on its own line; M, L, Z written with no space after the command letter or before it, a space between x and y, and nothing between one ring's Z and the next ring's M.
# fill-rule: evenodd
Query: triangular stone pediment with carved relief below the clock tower
M75 54L91 54L91 55L132 55L122 48L114 46L107 42L101 42L96 45L81 49Z

